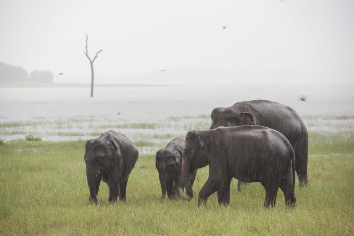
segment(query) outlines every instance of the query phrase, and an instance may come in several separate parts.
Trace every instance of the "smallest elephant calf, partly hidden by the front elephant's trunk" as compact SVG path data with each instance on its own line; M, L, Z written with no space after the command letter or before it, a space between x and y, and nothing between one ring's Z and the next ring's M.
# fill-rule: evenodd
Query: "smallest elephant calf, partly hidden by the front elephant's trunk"
M179 197L179 188L183 189L182 183L182 152L185 148L185 141L181 138L174 138L166 147L156 153L156 168L159 172L162 196L165 199L166 192L169 199ZM191 185L194 183L197 170L191 176Z

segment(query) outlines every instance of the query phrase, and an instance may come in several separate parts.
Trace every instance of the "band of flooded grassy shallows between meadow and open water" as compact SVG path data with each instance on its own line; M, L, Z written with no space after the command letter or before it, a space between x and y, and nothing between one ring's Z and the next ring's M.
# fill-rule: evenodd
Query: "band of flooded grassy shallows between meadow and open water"
M354 130L354 116L304 116L310 132L321 135ZM45 119L41 116L28 120L3 121L0 119L0 135L6 140L23 139L26 135L43 140L85 140L98 137L108 130L125 134L133 141L146 139L184 138L187 131L209 129L209 114L195 116L169 116L159 120L135 120L114 115L65 116Z

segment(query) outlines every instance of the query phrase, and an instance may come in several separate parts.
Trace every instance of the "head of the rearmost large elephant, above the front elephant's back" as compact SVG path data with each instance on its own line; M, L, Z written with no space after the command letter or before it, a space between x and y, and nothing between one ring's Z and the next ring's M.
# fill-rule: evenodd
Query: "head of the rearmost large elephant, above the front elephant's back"
M220 126L256 125L256 118L249 112L238 112L233 108L215 108L211 112L210 129Z

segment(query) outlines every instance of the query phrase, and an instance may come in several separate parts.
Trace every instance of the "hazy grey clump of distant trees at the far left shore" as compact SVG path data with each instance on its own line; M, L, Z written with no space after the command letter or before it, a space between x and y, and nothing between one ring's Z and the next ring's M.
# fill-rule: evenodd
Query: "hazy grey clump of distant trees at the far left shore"
M0 62L0 82L39 82L52 83L53 74L51 71L34 70L30 74L20 66L7 65Z

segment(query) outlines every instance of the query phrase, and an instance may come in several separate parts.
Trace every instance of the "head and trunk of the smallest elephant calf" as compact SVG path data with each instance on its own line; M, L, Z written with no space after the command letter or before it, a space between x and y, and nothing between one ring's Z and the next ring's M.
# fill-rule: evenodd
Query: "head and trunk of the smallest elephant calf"
M156 168L159 172L163 200L167 195L174 196L173 180L181 175L182 152L180 150L161 149L156 153Z

